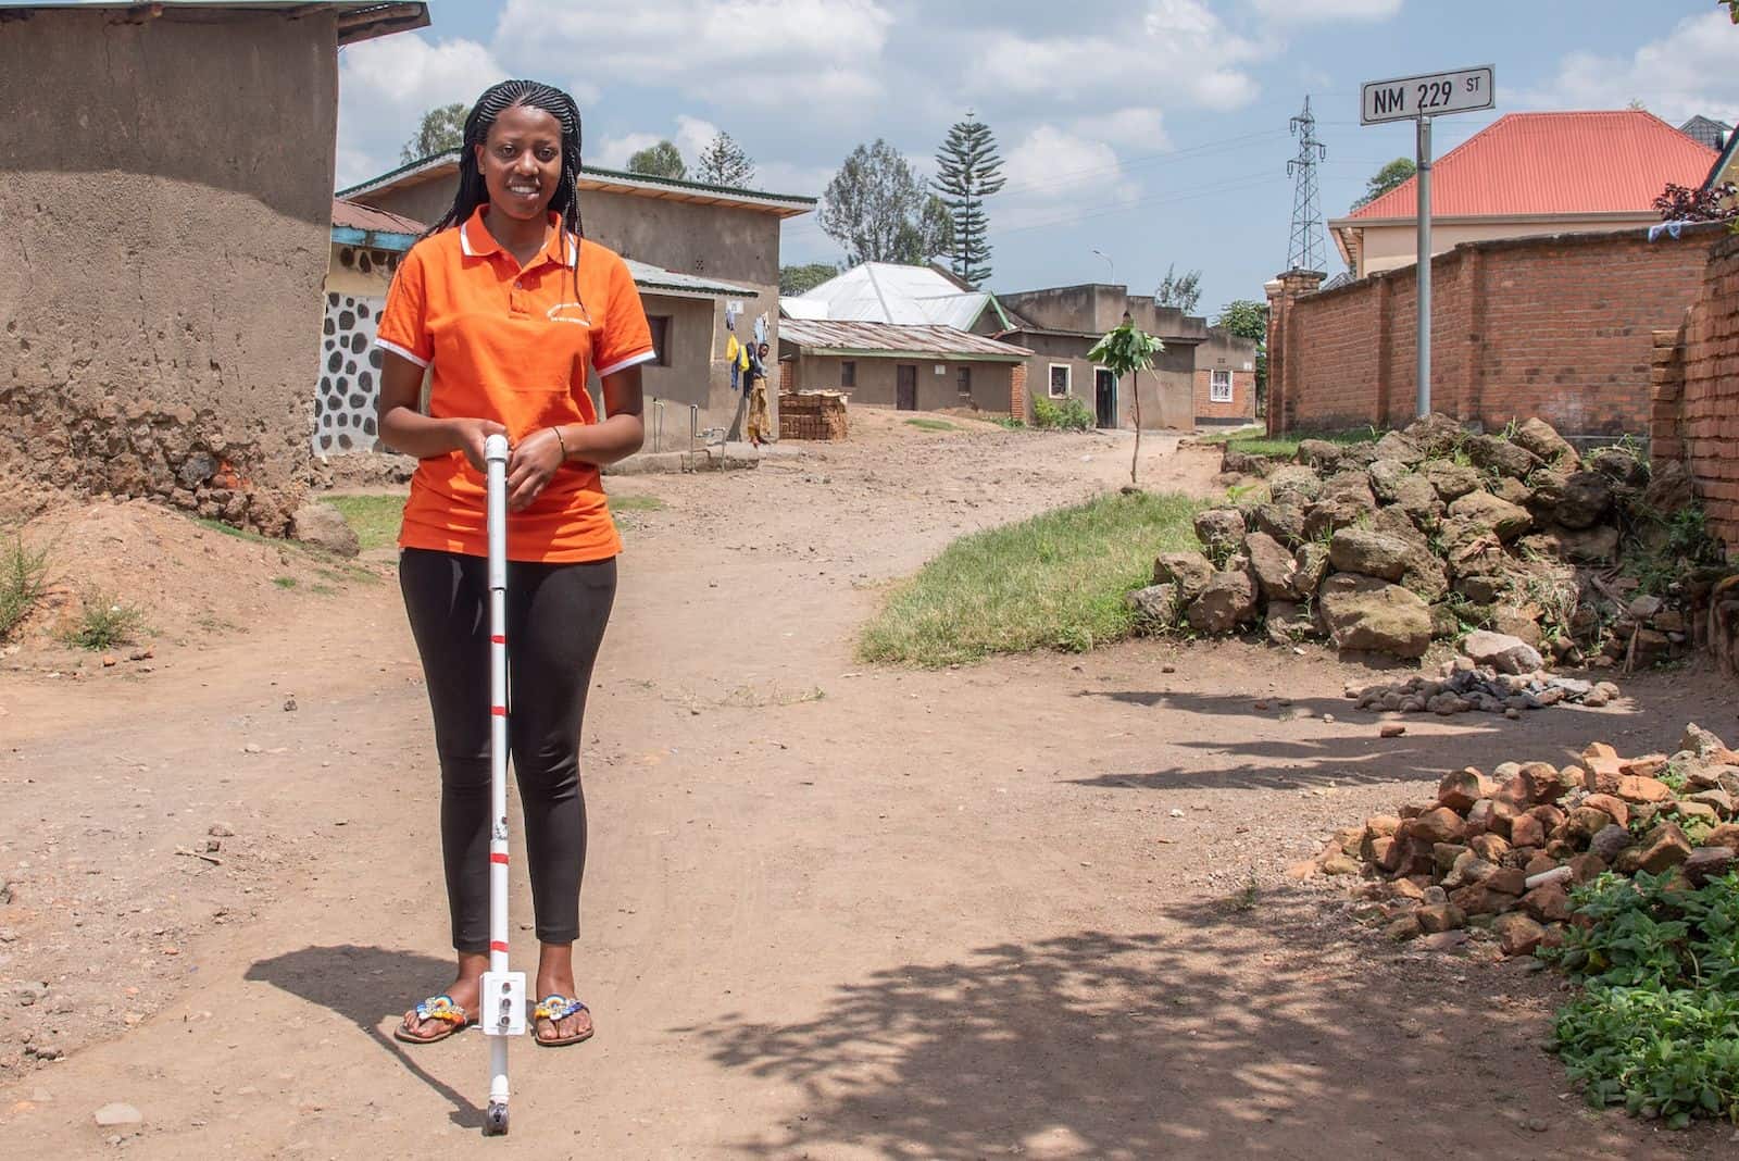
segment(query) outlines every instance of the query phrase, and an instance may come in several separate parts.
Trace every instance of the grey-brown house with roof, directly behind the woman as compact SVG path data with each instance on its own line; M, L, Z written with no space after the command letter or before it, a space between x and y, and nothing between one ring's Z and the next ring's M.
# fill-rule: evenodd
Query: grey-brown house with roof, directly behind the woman
M452 205L457 174L450 149L339 196L433 222ZM643 368L647 448L687 443L690 422L734 435L744 398L730 388L725 313L741 313L739 337L765 316L769 346L779 349L779 224L810 212L816 198L603 169L581 170L579 198L586 236L628 261L652 323L659 358Z

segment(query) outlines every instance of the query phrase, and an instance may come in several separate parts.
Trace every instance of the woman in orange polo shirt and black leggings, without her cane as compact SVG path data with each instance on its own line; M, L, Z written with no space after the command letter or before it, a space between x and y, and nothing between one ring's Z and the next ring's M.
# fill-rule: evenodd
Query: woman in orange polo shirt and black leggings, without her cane
M489 579L483 440L508 461L510 747L537 921L539 1045L591 1036L574 940L586 862L579 733L616 596L621 541L598 468L640 448L640 363L654 358L621 257L584 240L579 109L550 85L492 87L464 122L452 209L410 249L381 313L379 433L421 462L398 575L440 754L440 831L457 970L400 1039L475 1020L489 966ZM417 396L430 372L428 414ZM586 393L603 384L605 419Z

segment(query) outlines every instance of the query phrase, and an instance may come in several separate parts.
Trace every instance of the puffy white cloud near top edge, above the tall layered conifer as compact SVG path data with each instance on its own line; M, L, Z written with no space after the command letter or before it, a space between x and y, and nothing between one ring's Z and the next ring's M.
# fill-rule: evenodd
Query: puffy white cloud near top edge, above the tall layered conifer
M1139 35L1031 38L996 31L967 71L981 94L1085 101L1153 92L1214 109L1256 99L1256 78L1238 68L1276 45L1238 36L1202 0L1149 0Z

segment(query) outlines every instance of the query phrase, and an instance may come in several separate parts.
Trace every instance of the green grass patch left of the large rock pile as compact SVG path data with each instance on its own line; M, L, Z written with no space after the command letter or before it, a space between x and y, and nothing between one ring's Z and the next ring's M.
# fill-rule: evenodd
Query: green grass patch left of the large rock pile
M1200 508L1177 492L1103 495L962 537L889 594L859 653L934 667L1127 638L1125 594L1151 580L1156 554L1198 547Z

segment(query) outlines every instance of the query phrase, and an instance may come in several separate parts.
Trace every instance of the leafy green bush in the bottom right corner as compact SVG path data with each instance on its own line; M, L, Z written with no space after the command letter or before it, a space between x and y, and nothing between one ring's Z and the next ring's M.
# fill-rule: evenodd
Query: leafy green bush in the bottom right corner
M1739 1123L1739 874L1687 890L1671 872L1607 872L1570 902L1586 926L1541 954L1588 984L1553 1025L1588 1104L1671 1128Z

